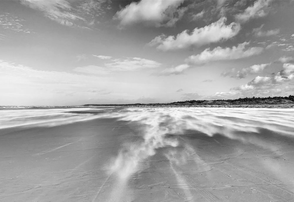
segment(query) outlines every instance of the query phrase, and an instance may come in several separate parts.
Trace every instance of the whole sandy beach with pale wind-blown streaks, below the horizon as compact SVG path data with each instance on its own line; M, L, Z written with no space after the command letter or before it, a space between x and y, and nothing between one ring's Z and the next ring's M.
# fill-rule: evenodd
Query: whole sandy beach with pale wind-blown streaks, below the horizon
M294 201L293 112L81 108L21 125L19 110L0 129L0 201Z

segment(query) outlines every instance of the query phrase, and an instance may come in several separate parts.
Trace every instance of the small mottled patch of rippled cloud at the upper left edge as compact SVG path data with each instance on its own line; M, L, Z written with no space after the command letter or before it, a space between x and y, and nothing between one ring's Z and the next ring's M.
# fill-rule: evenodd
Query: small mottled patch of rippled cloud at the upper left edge
M25 20L13 16L9 13L0 14L0 26L4 29L9 29L15 32L31 33L31 30L24 28L23 22ZM0 39L3 37L0 36Z

